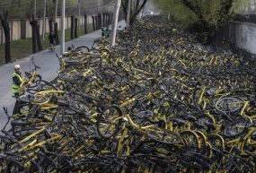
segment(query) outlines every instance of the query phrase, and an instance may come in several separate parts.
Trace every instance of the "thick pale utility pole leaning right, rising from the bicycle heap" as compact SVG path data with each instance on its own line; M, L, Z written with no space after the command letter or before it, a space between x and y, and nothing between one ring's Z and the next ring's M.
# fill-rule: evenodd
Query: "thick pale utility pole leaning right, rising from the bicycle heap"
M112 32L111 32L111 38L110 38L110 47L114 47L116 42L120 4L121 4L121 0L116 0L115 9L114 9L114 18L113 18L112 29L111 29Z

